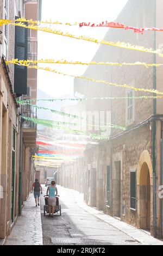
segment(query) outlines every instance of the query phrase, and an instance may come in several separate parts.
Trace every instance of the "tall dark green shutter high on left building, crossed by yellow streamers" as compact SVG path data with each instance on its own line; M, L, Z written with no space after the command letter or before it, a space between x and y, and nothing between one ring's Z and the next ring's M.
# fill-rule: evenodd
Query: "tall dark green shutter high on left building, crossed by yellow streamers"
M16 17L17 19L18 17ZM27 59L28 29L15 26L15 59ZM27 67L15 65L14 92L17 97L27 94Z

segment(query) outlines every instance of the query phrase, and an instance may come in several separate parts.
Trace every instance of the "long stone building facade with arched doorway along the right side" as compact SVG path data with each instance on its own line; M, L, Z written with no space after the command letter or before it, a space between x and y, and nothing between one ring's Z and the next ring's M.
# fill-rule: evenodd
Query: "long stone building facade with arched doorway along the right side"
M148 8L149 5L152 8ZM117 22L134 27L161 27L161 8L160 0L129 0ZM104 39L160 48L163 36L161 33L142 35L109 29ZM162 63L162 58L101 45L92 61ZM161 72L161 67L89 66L84 76L135 88L156 88L162 92ZM82 171L77 167L80 161L70 167L62 166L58 173L59 183L84 192L85 201L90 206L162 237L162 198L159 196L162 185L162 99L134 99L134 96L152 94L77 79L74 92L84 97L130 97L129 100L98 101L98 104L96 100L83 103L86 111L110 111L111 123L126 127L126 131L111 129L108 141L87 148ZM73 169L76 183L70 181L71 184L67 184L66 169Z

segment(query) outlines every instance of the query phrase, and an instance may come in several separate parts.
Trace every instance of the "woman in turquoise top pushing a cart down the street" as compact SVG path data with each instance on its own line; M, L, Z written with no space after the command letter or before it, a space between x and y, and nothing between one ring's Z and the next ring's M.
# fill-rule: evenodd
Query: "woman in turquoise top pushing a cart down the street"
M47 188L47 192L46 192L46 194L49 195L48 197L49 216L51 216L52 218L54 217L55 206L56 206L55 196L58 194L58 190L55 184L56 184L55 180L52 180L51 186ZM52 210L52 215L51 215L51 210Z

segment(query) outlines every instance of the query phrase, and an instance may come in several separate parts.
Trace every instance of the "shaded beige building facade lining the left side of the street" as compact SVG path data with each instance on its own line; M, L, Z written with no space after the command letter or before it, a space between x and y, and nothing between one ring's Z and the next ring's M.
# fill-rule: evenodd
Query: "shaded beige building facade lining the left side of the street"
M0 19L23 17L25 2L1 0ZM5 60L15 58L15 35L14 26L0 27L0 240L10 234L21 215L35 175L32 148L36 131L34 135L30 131L30 136L35 138L32 138L33 145L28 145L21 119L24 109L17 104L20 95L15 91L15 66L5 64Z

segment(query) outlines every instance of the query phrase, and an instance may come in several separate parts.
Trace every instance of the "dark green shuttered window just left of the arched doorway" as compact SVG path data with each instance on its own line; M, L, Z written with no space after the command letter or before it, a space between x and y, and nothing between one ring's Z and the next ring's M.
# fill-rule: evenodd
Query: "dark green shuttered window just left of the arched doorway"
M130 208L136 209L136 170L130 170Z

